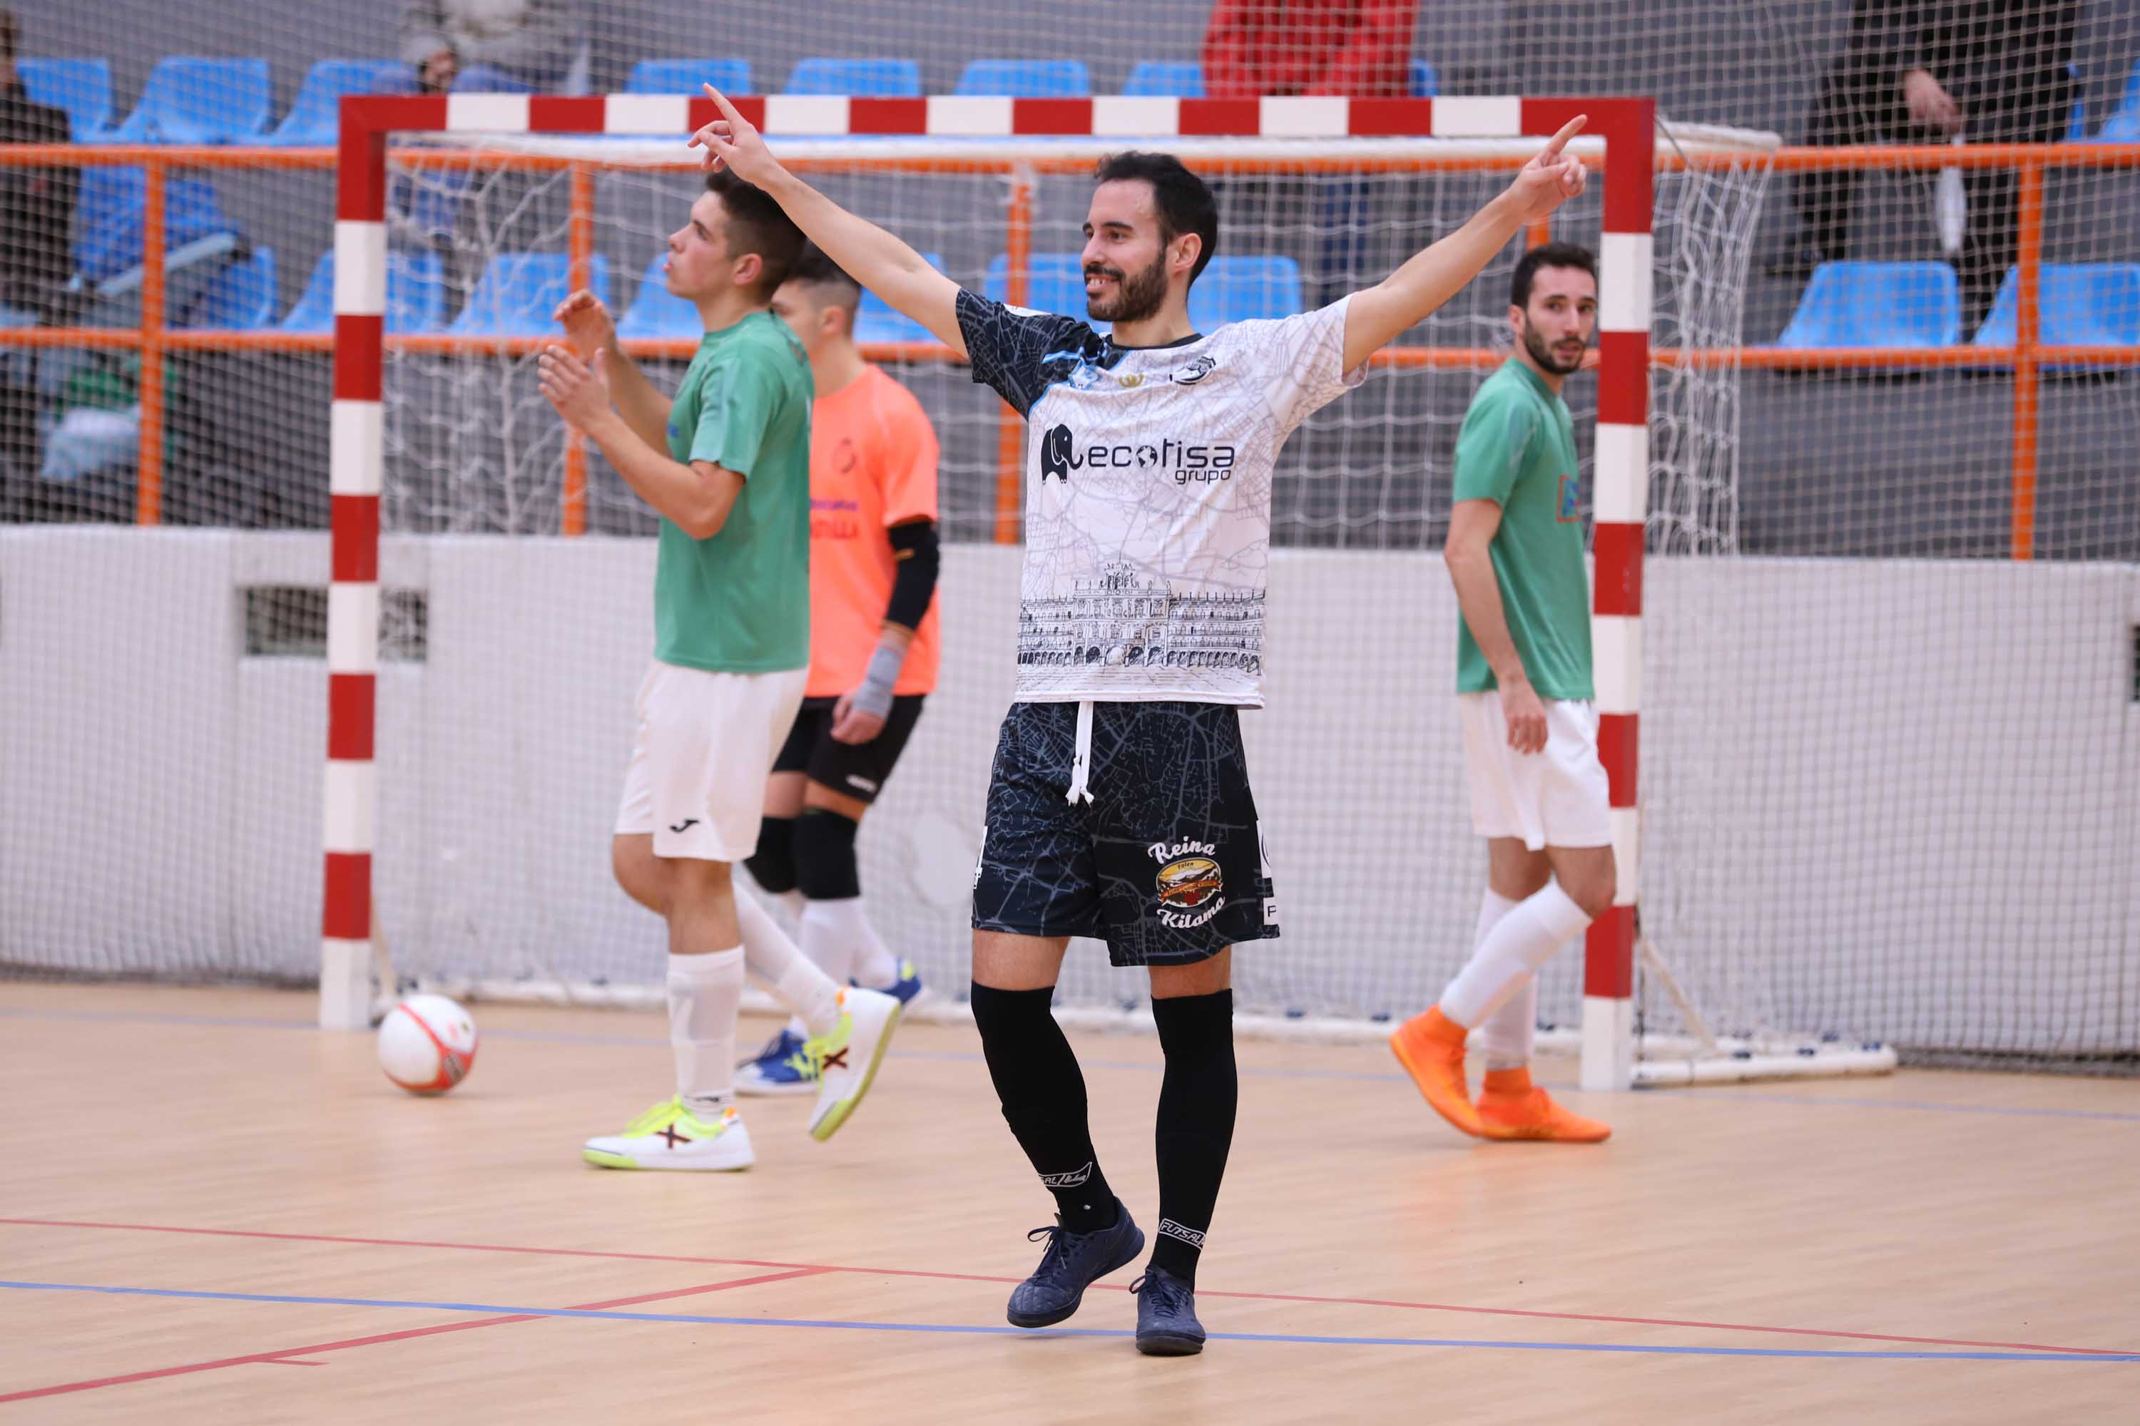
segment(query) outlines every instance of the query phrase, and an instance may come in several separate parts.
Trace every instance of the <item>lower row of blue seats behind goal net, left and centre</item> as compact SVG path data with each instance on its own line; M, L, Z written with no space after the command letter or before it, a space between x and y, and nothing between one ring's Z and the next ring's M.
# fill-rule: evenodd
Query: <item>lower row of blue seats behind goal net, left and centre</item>
M935 252L922 254L944 269ZM1004 299L1010 259L989 263L982 291ZM445 323L445 282L434 252L387 252L387 331L452 331L456 336L554 336L550 314L569 289L569 259L563 252L499 252L475 280L475 291L452 323ZM608 301L610 265L599 252L588 261L588 286ZM1085 284L1079 254L1049 252L1031 261L1027 306L1085 314ZM255 248L227 263L201 295L178 316L182 327L323 334L334 329L334 252L321 254L297 304L274 319L276 252ZM1201 331L1252 316L1286 316L1301 310L1301 272L1286 257L1218 257L1190 291L1190 321ZM1104 323L1102 323L1104 327ZM657 254L640 278L631 306L616 321L623 338L698 338L698 310L668 291ZM862 344L931 342L918 323L862 293L854 338Z

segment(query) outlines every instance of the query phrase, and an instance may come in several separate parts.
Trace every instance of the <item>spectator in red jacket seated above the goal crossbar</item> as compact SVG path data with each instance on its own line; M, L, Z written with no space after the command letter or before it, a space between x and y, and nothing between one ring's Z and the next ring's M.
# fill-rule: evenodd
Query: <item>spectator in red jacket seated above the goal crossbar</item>
M1203 68L1211 98L1263 94L1410 94L1419 0L1216 0L1205 26ZM1365 278L1367 184L1316 182L1316 306ZM1233 190L1233 192L1228 192ZM1222 201L1269 201L1260 182L1213 184ZM1252 220L1252 218L1250 218Z

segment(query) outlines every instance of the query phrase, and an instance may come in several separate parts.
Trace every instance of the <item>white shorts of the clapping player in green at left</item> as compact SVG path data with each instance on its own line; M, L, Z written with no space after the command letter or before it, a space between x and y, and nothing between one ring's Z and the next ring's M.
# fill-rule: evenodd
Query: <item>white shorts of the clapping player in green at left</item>
M802 706L809 669L706 673L655 661L616 834L653 834L657 857L743 862L758 851L773 755Z

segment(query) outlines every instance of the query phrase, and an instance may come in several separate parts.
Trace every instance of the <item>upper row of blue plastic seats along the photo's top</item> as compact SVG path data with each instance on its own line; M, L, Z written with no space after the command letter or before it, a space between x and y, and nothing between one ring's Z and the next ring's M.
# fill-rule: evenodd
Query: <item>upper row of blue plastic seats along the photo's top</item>
M345 94L413 94L415 75L400 60L319 60L304 75L282 122L268 128L272 81L268 60L225 56L167 56L150 71L133 113L113 122L111 64L96 58L36 58L19 62L30 100L64 109L75 143L334 143ZM1412 94L1434 94L1438 75L1427 60L1412 60ZM749 60L640 60L625 90L631 94L698 94L713 83L730 94L751 92ZM2140 71L2134 83L2140 86ZM788 75L788 94L916 96L922 71L914 60L839 60L811 56ZM959 75L954 94L1012 94L1059 98L1091 94L1083 60L974 60ZM1124 86L1126 94L1179 94L1201 98L1201 64L1145 60ZM2131 126L2140 128L2140 90L2127 94ZM2125 113L2121 107L2119 113ZM2112 137L2119 115L2104 126Z

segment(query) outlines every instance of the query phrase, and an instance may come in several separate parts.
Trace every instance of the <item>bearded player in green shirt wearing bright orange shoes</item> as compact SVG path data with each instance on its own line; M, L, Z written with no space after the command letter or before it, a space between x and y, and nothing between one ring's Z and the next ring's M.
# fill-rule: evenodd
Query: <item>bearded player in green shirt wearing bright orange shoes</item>
M1530 1082L1539 968L1611 906L1614 855L1590 688L1575 421L1560 387L1599 321L1596 261L1545 244L1515 265L1515 355L1485 378L1457 432L1449 577L1457 586L1457 706L1485 900L1470 960L1391 1050L1451 1125L1485 1140L1596 1144L1611 1129ZM1464 1037L1483 1026L1474 1105Z

